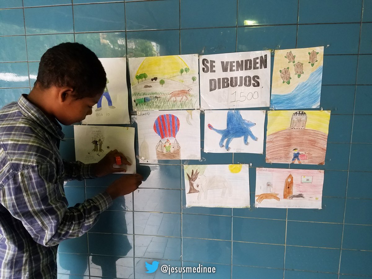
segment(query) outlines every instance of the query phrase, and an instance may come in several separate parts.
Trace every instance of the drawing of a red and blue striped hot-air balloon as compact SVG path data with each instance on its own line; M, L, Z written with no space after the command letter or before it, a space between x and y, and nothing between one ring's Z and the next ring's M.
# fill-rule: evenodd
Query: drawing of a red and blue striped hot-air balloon
M199 110L144 111L133 119L141 163L200 159Z

